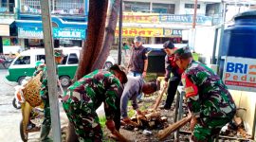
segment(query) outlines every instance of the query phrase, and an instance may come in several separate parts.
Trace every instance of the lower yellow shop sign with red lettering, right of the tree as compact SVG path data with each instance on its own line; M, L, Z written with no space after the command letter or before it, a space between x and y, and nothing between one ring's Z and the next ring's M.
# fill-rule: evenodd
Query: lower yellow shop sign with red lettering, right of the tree
M116 29L116 36L119 36L119 29ZM134 37L140 35L142 37L163 37L163 28L122 28L122 36Z

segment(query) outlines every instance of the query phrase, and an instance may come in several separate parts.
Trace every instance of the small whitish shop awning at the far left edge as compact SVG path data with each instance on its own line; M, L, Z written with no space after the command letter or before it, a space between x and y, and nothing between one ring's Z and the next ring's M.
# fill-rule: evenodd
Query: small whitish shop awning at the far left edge
M9 36L10 25L14 22L14 19L0 19L0 36Z

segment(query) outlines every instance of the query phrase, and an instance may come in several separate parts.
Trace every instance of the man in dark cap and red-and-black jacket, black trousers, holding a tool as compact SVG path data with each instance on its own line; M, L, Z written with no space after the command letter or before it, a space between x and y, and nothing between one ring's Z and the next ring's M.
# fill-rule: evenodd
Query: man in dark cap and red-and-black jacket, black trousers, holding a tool
M167 89L167 98L165 104L160 106L161 109L170 110L172 103L174 102L174 97L177 91L177 86L181 80L182 71L178 68L174 62L174 51L177 49L171 41L167 41L163 44L165 56L165 84L164 87ZM172 73L172 76L171 76ZM169 84L168 84L169 82Z

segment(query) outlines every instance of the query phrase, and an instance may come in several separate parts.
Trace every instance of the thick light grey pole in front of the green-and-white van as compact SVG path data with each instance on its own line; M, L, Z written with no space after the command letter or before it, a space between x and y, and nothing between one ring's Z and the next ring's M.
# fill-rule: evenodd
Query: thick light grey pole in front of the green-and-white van
M44 43L46 50L46 73L47 73L47 85L50 104L50 116L51 126L53 132L53 141L61 142L61 123L60 123L60 111L59 100L57 90L57 76L56 76L56 64L53 55L53 39L51 28L51 16L50 16L50 0L40 0L42 9L42 23L44 31Z

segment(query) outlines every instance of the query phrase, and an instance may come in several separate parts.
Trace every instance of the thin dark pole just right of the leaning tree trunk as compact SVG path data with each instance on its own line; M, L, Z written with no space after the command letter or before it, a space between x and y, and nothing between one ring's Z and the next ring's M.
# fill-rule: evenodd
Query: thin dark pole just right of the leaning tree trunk
M119 9L119 57L118 63L121 63L121 46L122 46L122 0L120 0L120 9Z

